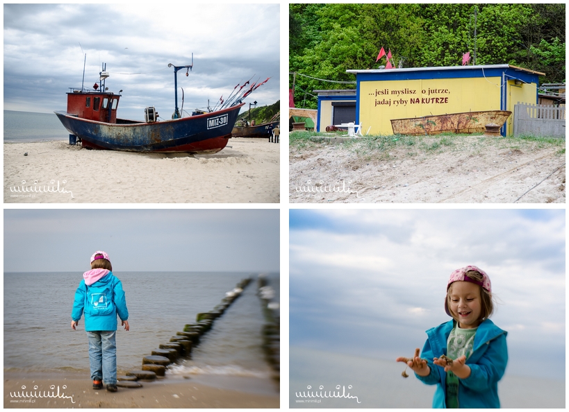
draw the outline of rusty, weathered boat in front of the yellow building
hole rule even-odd
[[[490,123],[501,128],[511,114],[512,112],[506,110],[489,110],[392,119],[391,127],[395,135],[438,135],[444,132],[484,133],[484,127]]]

